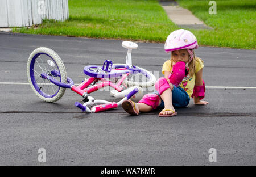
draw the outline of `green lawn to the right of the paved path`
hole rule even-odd
[[[217,14],[210,15],[206,0],[178,0],[179,5],[189,9],[214,31],[191,30],[200,45],[255,49],[256,1],[217,0]]]

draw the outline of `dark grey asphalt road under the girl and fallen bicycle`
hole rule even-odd
[[[42,102],[27,83],[32,50],[48,47],[63,60],[68,77],[80,83],[85,65],[124,63],[120,40],[0,33],[0,165],[256,165],[255,50],[199,47],[208,106],[127,115],[121,107],[87,114],[74,106],[81,97],[67,90],[56,103]],[[133,64],[162,77],[169,54],[163,44],[138,43]],[[221,86],[210,88],[209,86]],[[225,88],[254,87],[247,88]],[[92,94],[115,100],[108,91]],[[38,149],[46,162],[38,162]],[[209,162],[210,148],[217,162]]]

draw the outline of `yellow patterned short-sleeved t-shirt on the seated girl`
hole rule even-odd
[[[204,64],[203,62],[196,57],[196,67],[195,67],[195,73],[197,73],[198,71],[200,71],[202,68],[204,68]],[[164,62],[163,64],[163,69],[162,69],[162,73],[164,74],[164,71],[172,71],[171,68],[171,60],[167,60],[166,62]],[[196,74],[193,75],[193,77],[189,78],[187,81],[183,81],[180,84],[180,87],[183,88],[189,95],[189,98],[191,98],[191,95],[193,94],[193,89],[195,86],[195,82],[196,82]]]

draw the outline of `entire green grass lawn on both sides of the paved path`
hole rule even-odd
[[[192,31],[199,45],[255,49],[255,0],[220,0],[217,15],[208,13],[207,0],[179,0],[213,30]],[[15,32],[76,37],[96,37],[164,42],[180,29],[172,23],[156,0],[69,0],[69,19],[44,20],[32,28]]]

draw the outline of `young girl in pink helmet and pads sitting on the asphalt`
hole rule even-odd
[[[171,60],[163,64],[164,77],[156,81],[156,91],[144,95],[138,103],[126,100],[122,103],[123,109],[131,115],[138,115],[139,112],[162,108],[159,117],[170,117],[177,115],[174,107],[188,106],[191,97],[195,104],[209,104],[201,100],[205,92],[204,64],[195,56],[193,49],[197,48],[196,37],[190,31],[172,32],[164,45],[166,52],[171,52]]]

